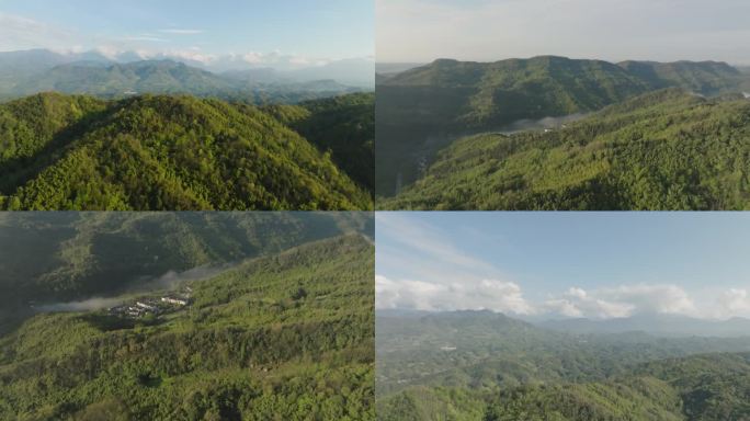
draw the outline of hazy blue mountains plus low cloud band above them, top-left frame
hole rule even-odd
[[[190,93],[295,102],[374,87],[374,64],[366,59],[275,70],[248,64],[230,70],[180,57],[115,59],[96,52],[58,54],[45,49],[0,53],[0,98],[44,91],[118,98],[135,93]]]

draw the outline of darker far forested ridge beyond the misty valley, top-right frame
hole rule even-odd
[[[436,60],[377,86],[377,193],[390,196],[420,179],[424,162],[468,134],[590,113],[666,88],[711,96],[739,92],[747,81],[714,61]]]

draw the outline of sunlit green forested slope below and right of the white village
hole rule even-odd
[[[373,270],[344,236],[189,281],[158,317],[39,314],[0,337],[0,418],[373,420]]]

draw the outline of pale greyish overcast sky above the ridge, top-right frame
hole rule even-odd
[[[376,0],[377,60],[576,58],[750,65],[747,0]]]

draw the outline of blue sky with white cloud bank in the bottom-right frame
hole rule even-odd
[[[379,308],[750,316],[750,215],[378,213]]]

